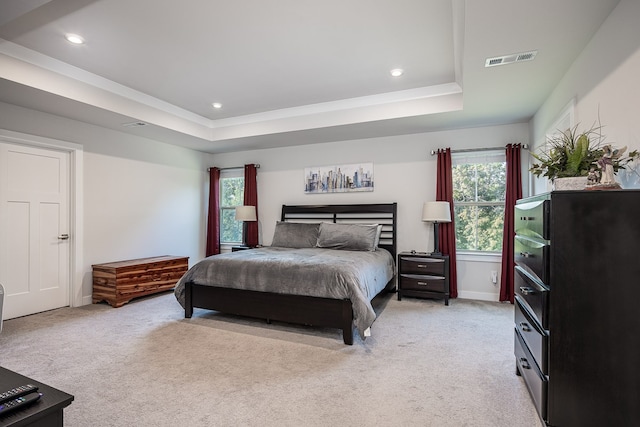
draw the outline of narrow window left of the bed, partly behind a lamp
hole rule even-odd
[[[244,204],[244,172],[220,172],[220,243],[241,243],[242,222],[236,221],[236,206]]]

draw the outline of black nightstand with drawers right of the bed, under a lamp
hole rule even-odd
[[[398,254],[398,301],[403,296],[444,299],[449,305],[449,255]]]

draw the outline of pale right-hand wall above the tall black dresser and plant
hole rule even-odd
[[[576,123],[603,126],[606,142],[640,149],[640,2],[621,0],[531,121],[532,141],[544,135],[574,99]],[[545,191],[536,185],[534,194]]]

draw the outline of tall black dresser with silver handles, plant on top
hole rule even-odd
[[[640,425],[640,191],[519,200],[515,357],[549,426]]]

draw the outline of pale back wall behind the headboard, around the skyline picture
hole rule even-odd
[[[504,147],[517,142],[528,143],[527,124],[218,154],[210,166],[260,164],[260,241],[265,245],[271,243],[283,204],[397,202],[398,249],[431,251],[433,226],[420,220],[423,202],[435,200],[436,157],[431,150]],[[361,162],[374,164],[373,192],[304,193],[305,167]],[[500,271],[499,257],[465,259],[458,262],[459,296],[497,301],[499,289],[491,283],[490,271]]]

